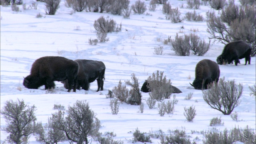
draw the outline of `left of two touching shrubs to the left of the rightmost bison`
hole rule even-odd
[[[178,36],[178,33],[176,33],[175,39],[171,40],[172,50],[174,50],[175,54],[178,54],[178,56],[189,56],[189,41],[190,38],[188,35],[185,34],[183,38],[182,36]]]

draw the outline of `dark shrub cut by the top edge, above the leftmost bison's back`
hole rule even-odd
[[[44,0],[45,1],[45,12],[49,15],[54,15],[59,8],[60,0]]]

